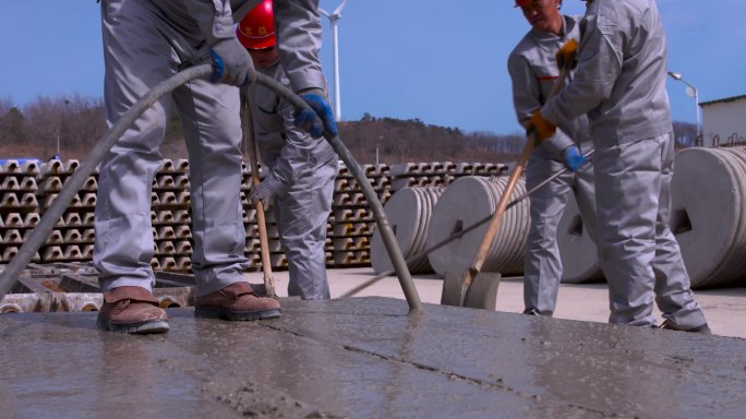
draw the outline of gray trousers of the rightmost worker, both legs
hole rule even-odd
[[[675,327],[706,323],[669,228],[673,160],[673,134],[595,148],[598,246],[610,323],[654,324],[653,297]]]

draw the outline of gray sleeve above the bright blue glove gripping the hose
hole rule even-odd
[[[275,0],[275,34],[280,62],[294,92],[325,91],[318,50],[322,25],[318,0]]]

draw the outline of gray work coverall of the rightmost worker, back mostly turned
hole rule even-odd
[[[542,116],[560,122],[588,113],[609,320],[654,324],[654,295],[674,327],[703,325],[669,228],[674,144],[658,7],[653,0],[593,0],[580,25],[575,77]]]

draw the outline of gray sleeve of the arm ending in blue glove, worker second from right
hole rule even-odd
[[[526,129],[531,115],[543,105],[541,86],[537,75],[531,71],[531,65],[519,55],[508,57],[508,73],[513,81],[513,106],[516,109],[516,117],[518,123]],[[541,142],[541,146],[555,158],[561,158],[562,152],[570,145],[575,145],[575,142],[560,128],[554,135]]]

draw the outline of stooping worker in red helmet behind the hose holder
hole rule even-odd
[[[289,81],[276,47],[272,0],[263,0],[236,28],[257,71],[284,85]],[[293,107],[264,86],[248,87],[254,135],[267,175],[252,199],[272,206],[280,244],[288,258],[288,295],[329,298],[326,278],[326,224],[332,211],[337,154],[323,137],[293,124]],[[272,204],[272,205],[269,205]]]

